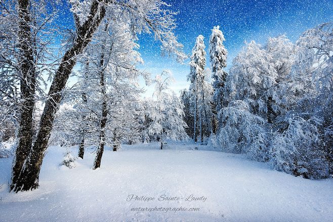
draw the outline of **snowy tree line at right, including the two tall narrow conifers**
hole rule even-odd
[[[223,41],[214,27],[209,71],[203,36],[196,39],[191,84],[181,94],[188,135],[290,174],[332,174],[333,23],[307,30],[295,44],[285,35],[264,46],[248,42],[228,72]]]

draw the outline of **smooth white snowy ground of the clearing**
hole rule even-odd
[[[94,171],[89,151],[68,169],[59,167],[65,148],[50,147],[39,189],[18,194],[8,193],[12,159],[0,159],[0,221],[332,221],[332,179],[310,181],[241,155],[190,148],[106,150]],[[127,201],[132,194],[155,199]],[[202,198],[186,201],[191,194]],[[183,199],[158,201],[161,195]],[[131,211],[138,207],[164,211]]]

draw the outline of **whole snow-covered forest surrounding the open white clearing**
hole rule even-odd
[[[168,6],[1,2],[0,156],[14,157],[10,191],[38,188],[49,146],[77,146],[65,154],[69,165],[93,147],[97,169],[106,147],[193,141],[306,179],[333,174],[333,23],[296,42],[286,35],[245,42],[226,70],[223,24],[193,39],[186,55]],[[60,7],[69,7],[69,27],[57,23]],[[152,77],[137,68],[141,33],[159,41],[161,59],[188,64],[189,88],[177,94],[169,70]],[[139,78],[154,85],[151,97],[142,96]]]

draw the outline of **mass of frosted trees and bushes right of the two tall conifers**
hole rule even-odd
[[[251,42],[233,61],[220,112],[217,141],[230,152],[270,160],[278,170],[305,178],[332,171],[332,23],[285,36],[265,47]]]

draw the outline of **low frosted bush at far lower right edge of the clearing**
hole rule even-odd
[[[286,129],[276,132],[272,141],[273,166],[305,178],[327,176],[328,164],[320,144],[318,125],[319,120],[315,118],[288,118]]]

